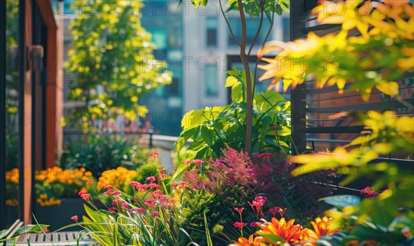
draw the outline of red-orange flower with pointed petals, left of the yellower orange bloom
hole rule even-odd
[[[288,243],[295,243],[299,241],[300,232],[302,227],[300,225],[293,225],[295,219],[291,219],[286,223],[285,218],[281,218],[280,221],[277,218],[272,218],[272,222],[265,222],[263,224],[257,223],[264,233],[270,233],[276,236],[280,236]],[[264,236],[266,238],[266,236]]]

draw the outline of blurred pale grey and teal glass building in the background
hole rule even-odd
[[[146,119],[141,119],[139,124],[142,126],[144,121],[150,121],[155,134],[169,136],[179,135],[181,118],[186,112],[206,106],[228,104],[228,89],[224,88],[225,71],[229,66],[242,70],[241,63],[228,60],[228,55],[239,54],[239,47],[233,41],[221,16],[219,1],[209,1],[206,8],[198,9],[190,1],[182,1],[181,6],[178,2],[143,1],[141,7],[141,23],[152,34],[152,41],[157,45],[155,59],[164,62],[166,70],[172,72],[172,83],[153,90],[139,100],[149,110]],[[70,21],[77,18],[79,10],[74,1],[65,0],[63,3],[64,54],[67,56],[72,41],[68,27]],[[239,14],[228,12],[227,17],[235,36],[240,38],[242,30],[239,29]],[[258,25],[259,18],[248,19],[248,44],[253,41]],[[270,23],[265,17],[252,57],[255,57],[261,47],[269,26]],[[268,40],[275,39],[289,40],[287,13],[281,17],[275,14],[275,23]],[[254,67],[254,62],[251,67]],[[76,74],[64,72],[65,99],[75,76]],[[266,90],[268,83],[258,83],[257,92]],[[77,102],[65,102],[66,109],[77,105]],[[118,121],[119,124],[122,122]]]

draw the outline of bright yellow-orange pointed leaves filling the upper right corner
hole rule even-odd
[[[362,2],[327,1],[315,8],[319,23],[342,25],[342,30],[323,37],[311,32],[305,41],[270,43],[263,52],[281,52],[275,59],[263,59],[269,64],[259,66],[266,70],[260,79],[283,79],[287,89],[313,75],[320,88],[356,90],[364,100],[374,88],[398,96],[395,81],[413,72],[413,7],[404,1]],[[347,82],[350,88],[345,88]]]

